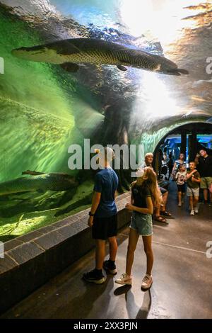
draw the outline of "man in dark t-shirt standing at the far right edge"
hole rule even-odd
[[[208,203],[208,190],[210,193],[210,205],[212,203],[212,157],[208,156],[205,149],[199,151],[197,157],[197,170],[201,176],[200,188],[204,190],[204,203]]]

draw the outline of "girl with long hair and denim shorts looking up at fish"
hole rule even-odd
[[[144,251],[146,252],[146,274],[143,277],[141,289],[151,288],[153,278],[153,205],[160,203],[160,191],[157,184],[157,177],[153,169],[148,166],[137,171],[137,180],[131,186],[131,203],[126,208],[132,211],[129,244],[126,254],[126,272],[115,280],[122,285],[131,285],[131,268],[134,261],[134,252],[141,235],[143,238]]]

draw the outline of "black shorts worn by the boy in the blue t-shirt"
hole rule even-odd
[[[117,236],[117,214],[110,218],[93,218],[93,239],[104,239]]]

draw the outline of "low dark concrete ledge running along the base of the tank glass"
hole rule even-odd
[[[129,193],[117,197],[118,228],[131,214],[124,208]],[[0,259],[0,312],[18,303],[95,246],[87,225],[88,211],[5,243]]]

